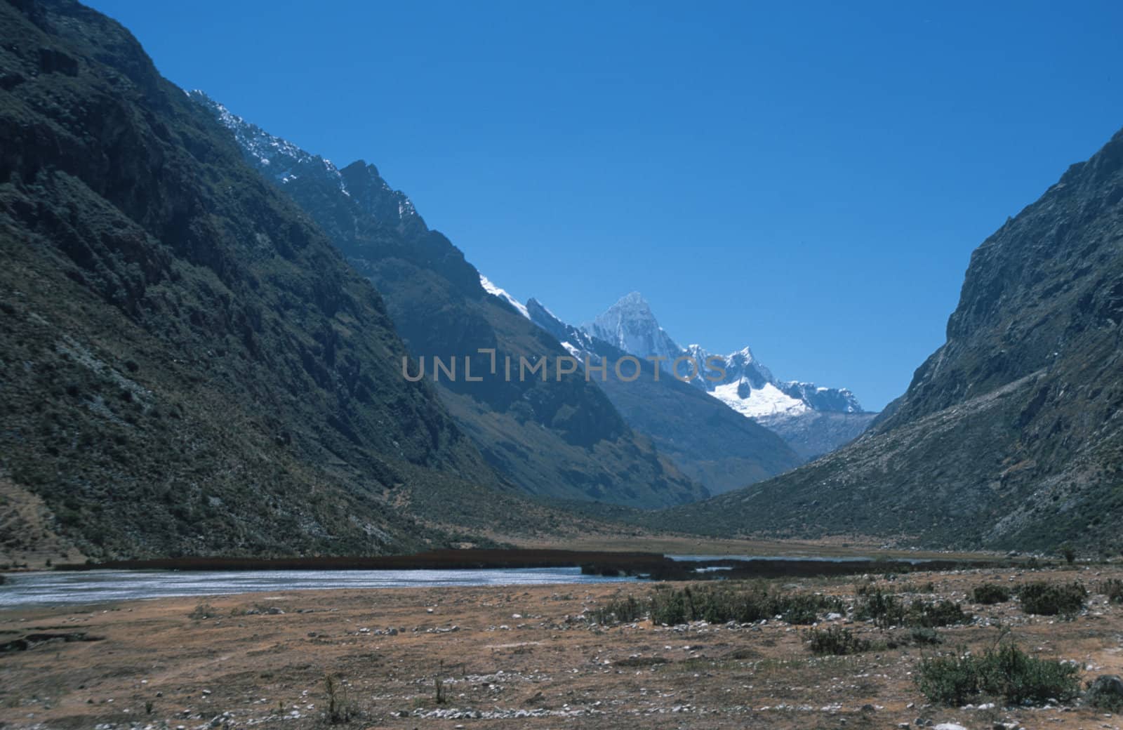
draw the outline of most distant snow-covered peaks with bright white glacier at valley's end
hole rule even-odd
[[[864,411],[846,389],[778,380],[748,347],[730,355],[714,355],[699,345],[681,347],[639,292],[624,295],[582,329],[639,357],[663,358],[668,373],[676,358],[691,358],[678,364],[682,376],[779,435],[803,460],[850,441],[877,416]]]

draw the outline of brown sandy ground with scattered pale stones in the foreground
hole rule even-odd
[[[965,601],[977,619],[940,629],[944,648],[980,648],[1002,622],[1028,650],[1078,661],[1086,679],[1123,673],[1123,606],[1103,596],[1067,621],[1025,615],[1016,602],[978,606],[967,599],[984,581],[1077,577],[1090,587],[1123,577],[1123,567],[914,573],[887,585],[909,594],[931,581],[938,596]],[[850,602],[856,580],[777,586]],[[166,599],[2,611],[0,644],[33,633],[85,636],[0,654],[0,727],[319,728],[329,724],[328,676],[355,713],[340,727],[354,728],[1123,726],[1121,717],[1080,706],[926,706],[912,681],[915,647],[815,657],[804,644],[807,628],[775,620],[603,628],[579,618],[609,597],[650,590],[631,583],[250,593],[210,597],[209,606]],[[849,627],[882,636],[865,622]]]

